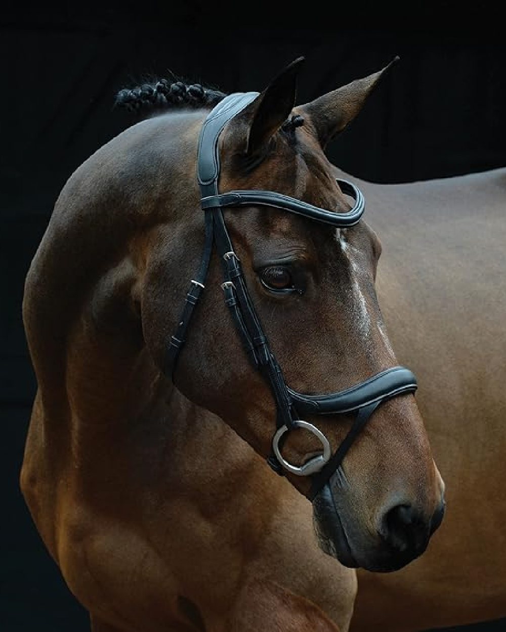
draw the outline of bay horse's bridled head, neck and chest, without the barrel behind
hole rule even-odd
[[[20,485],[95,632],[346,630],[352,569],[443,518],[379,241],[324,154],[390,65],[295,106],[300,61],[261,93],[144,87],[168,111],[78,167],[28,270]]]

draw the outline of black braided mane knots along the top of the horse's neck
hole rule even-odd
[[[135,88],[123,88],[116,94],[114,106],[142,116],[176,107],[214,107],[225,96],[224,92],[200,83],[159,79]]]

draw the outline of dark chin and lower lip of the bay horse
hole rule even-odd
[[[412,556],[394,553],[391,550],[378,550],[373,554],[361,554],[354,550],[340,518],[330,485],[324,485],[318,492],[312,507],[314,530],[320,549],[335,557],[343,566],[363,568],[374,573],[391,573],[414,559]]]

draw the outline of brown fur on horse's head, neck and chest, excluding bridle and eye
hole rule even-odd
[[[340,126],[354,116],[377,78],[321,101],[324,120],[332,102]],[[315,133],[319,106],[297,110],[307,125],[294,147],[273,131],[290,98],[266,111],[269,99],[268,90],[226,128],[220,186],[256,185],[347,209]],[[311,505],[299,494],[307,482],[276,477],[229,428],[265,457],[275,409],[231,326],[216,258],[174,384],[161,370],[202,250],[195,159],[205,116],[180,112],[133,126],[79,167],[59,196],[23,301],[39,386],[23,494],[96,629],[233,629],[238,616],[259,621],[265,610],[245,586],[275,581],[305,604],[294,621],[319,608],[346,630],[354,573],[316,547]],[[366,224],[336,236],[260,209],[228,213],[227,224],[295,389],[337,391],[396,363],[374,293],[378,243]],[[307,279],[305,296],[291,303],[269,296],[254,271],[287,253]],[[316,423],[336,447],[349,420]],[[292,460],[312,449],[305,437],[287,441]],[[378,408],[344,470],[332,485],[357,564],[392,568],[397,551],[378,531],[386,512],[410,504],[428,532],[442,497],[412,396]]]

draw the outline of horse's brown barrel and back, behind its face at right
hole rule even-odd
[[[379,305],[419,379],[448,504],[419,559],[388,575],[358,571],[351,629],[506,617],[506,169],[396,185],[334,173],[369,202],[384,246]]]

